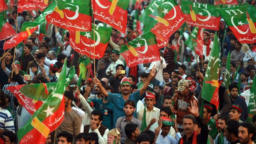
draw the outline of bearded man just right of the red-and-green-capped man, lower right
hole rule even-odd
[[[221,136],[220,135],[222,134],[222,136],[223,136],[224,128],[226,126],[226,122],[227,122],[228,119],[229,119],[229,117],[226,116],[226,115],[219,116],[219,119],[218,119],[218,129],[219,129],[219,132],[221,132],[221,133],[219,133],[216,136],[214,144],[220,144],[221,143]],[[223,142],[225,144],[228,143],[226,137],[223,137]]]

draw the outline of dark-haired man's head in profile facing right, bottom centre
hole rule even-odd
[[[140,129],[137,124],[128,123],[125,125],[125,134],[127,135],[125,144],[135,144],[135,140],[140,134]]]

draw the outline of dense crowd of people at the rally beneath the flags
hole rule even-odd
[[[188,26],[183,33],[174,32],[159,50],[160,61],[128,67],[119,51],[139,36],[132,24],[134,6],[128,13],[126,34],[112,29],[100,60],[74,51],[69,33],[51,23],[44,25],[47,34],[32,33],[25,45],[16,47],[15,54],[13,49],[3,51],[5,41],[0,42],[0,144],[18,143],[18,130],[32,116],[6,88],[57,82],[65,59],[67,68],[74,66],[76,74],[64,92],[64,120],[49,133],[45,144],[254,144],[256,115],[252,121],[247,118],[256,74],[256,43],[239,43],[221,21],[218,110],[206,100],[202,103],[215,31],[204,31],[203,57],[196,57],[184,44],[193,29]],[[19,32],[23,22],[34,21],[40,12],[32,18],[27,12],[16,14],[14,6],[13,17],[11,13],[6,17]],[[177,54],[173,47],[178,47]],[[231,62],[227,63],[229,52]],[[230,85],[225,87],[222,83],[229,65]]]

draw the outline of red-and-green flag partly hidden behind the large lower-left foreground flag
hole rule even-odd
[[[57,83],[23,84],[9,86],[6,90],[12,92],[22,107],[33,115],[49,97],[49,90]]]

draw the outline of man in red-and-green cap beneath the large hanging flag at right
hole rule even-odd
[[[204,120],[208,125],[209,135],[214,140],[218,134],[217,125],[215,119],[211,117],[212,106],[204,103]]]

